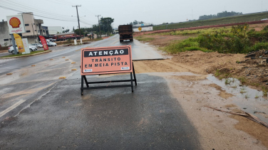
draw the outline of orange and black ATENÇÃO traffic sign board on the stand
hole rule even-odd
[[[81,50],[81,75],[132,73],[131,45]]]

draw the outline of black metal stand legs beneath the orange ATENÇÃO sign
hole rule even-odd
[[[101,89],[101,88],[113,88],[113,87],[131,87],[131,90],[133,92],[133,81],[135,81],[135,86],[137,86],[137,80],[136,80],[136,75],[135,75],[135,69],[134,69],[134,64],[133,65],[133,75],[134,79],[132,76],[132,73],[130,73],[130,80],[112,80],[112,81],[98,81],[98,82],[88,82],[86,79],[86,75],[81,75],[81,95],[83,95],[83,90],[91,90],[91,89]],[[83,87],[83,81],[85,80],[86,82],[86,87]],[[110,83],[110,82],[131,82],[130,85],[110,85],[110,86],[100,86],[100,87],[89,87],[89,84],[98,84],[98,83]]]

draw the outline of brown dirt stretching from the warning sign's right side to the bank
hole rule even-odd
[[[265,51],[257,53],[263,52]],[[257,90],[262,90],[262,87],[268,88],[267,63],[262,62],[264,60],[262,58],[256,57],[252,60],[245,56],[244,54],[204,53],[197,50],[172,55],[172,58],[168,60],[135,61],[134,65],[136,73],[215,74],[219,78],[235,77],[240,79],[244,85],[250,85]]]

